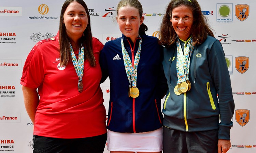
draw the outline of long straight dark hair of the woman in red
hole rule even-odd
[[[82,46],[84,46],[85,52],[84,52],[84,60],[88,59],[90,62],[90,66],[95,66],[95,58],[93,55],[92,50],[92,34],[91,34],[91,24],[90,24],[90,15],[88,11],[88,7],[85,4],[83,0],[66,0],[61,8],[61,14],[60,14],[60,22],[59,22],[59,41],[60,41],[60,64],[61,65],[67,65],[71,61],[71,54],[70,54],[70,38],[67,35],[64,21],[64,13],[72,2],[77,2],[81,4],[87,14],[88,18],[88,25],[86,29],[84,30],[84,36],[81,37],[80,41]]]

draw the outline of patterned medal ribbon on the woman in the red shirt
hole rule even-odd
[[[71,45],[70,45],[70,53],[71,53],[73,65],[75,67],[76,74],[80,82],[82,81],[82,78],[84,75],[84,46],[82,46],[82,48],[79,49],[78,61],[76,60],[75,53]]]

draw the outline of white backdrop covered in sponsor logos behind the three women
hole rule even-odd
[[[229,66],[236,104],[231,129],[232,147],[229,152],[254,153],[256,1],[198,1],[215,30],[216,38],[223,44]],[[24,107],[20,78],[31,48],[39,40],[56,35],[63,2],[64,0],[0,1],[0,153],[32,152],[32,122]],[[118,0],[85,2],[90,9],[94,37],[105,44],[106,41],[121,36],[115,21]],[[140,2],[144,10],[144,23],[148,26],[146,34],[158,37],[162,15],[169,0]],[[236,7],[239,4],[243,5],[238,10]],[[101,84],[101,87],[104,105],[108,109],[109,81]],[[105,149],[105,152],[108,151]]]

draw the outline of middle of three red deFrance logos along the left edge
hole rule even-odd
[[[21,69],[21,60],[0,60],[0,69]]]

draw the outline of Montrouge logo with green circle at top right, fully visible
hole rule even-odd
[[[232,3],[217,3],[217,22],[232,22]]]

